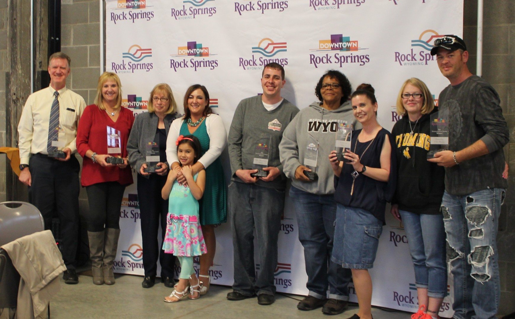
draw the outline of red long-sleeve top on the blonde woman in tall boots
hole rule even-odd
[[[82,162],[82,186],[89,186],[101,182],[118,182],[122,185],[132,184],[132,170],[118,166],[104,167],[85,157],[88,149],[97,154],[107,154],[107,126],[111,126],[121,133],[122,157],[127,157],[127,140],[134,123],[132,111],[121,107],[116,122],[111,120],[105,110],[95,104],[88,105],[79,120],[77,127],[77,152],[84,159]]]

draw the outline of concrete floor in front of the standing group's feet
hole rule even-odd
[[[185,299],[169,304],[163,298],[171,289],[164,287],[160,279],[154,287],[141,287],[143,277],[115,274],[116,284],[95,286],[91,271],[79,272],[78,285],[66,285],[61,279],[61,291],[50,302],[50,317],[61,318],[328,318],[321,309],[297,310],[302,298],[297,295],[277,294],[271,306],[258,305],[257,298],[228,301],[229,287],[213,285],[208,294],[197,300]],[[348,318],[357,312],[350,306],[334,318]],[[409,319],[410,313],[372,309],[375,319]]]

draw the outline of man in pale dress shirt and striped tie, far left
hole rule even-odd
[[[43,215],[45,230],[52,228],[57,212],[58,237],[67,268],[63,279],[66,284],[77,284],[80,165],[75,157],[75,138],[86,103],[80,95],[66,89],[70,72],[68,55],[50,55],[50,86],[28,97],[18,124],[18,146],[20,181],[29,186],[29,201]]]

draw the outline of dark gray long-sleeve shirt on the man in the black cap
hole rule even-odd
[[[439,109],[449,109],[449,149],[460,151],[482,140],[488,154],[445,169],[445,191],[468,195],[477,191],[502,188],[507,182],[503,146],[509,131],[500,99],[493,87],[478,76],[458,85],[449,85],[440,93]]]

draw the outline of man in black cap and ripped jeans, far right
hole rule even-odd
[[[451,82],[439,97],[439,109],[449,111],[449,150],[429,161],[445,167],[441,210],[454,276],[453,317],[495,318],[501,293],[495,238],[507,187],[508,126],[497,92],[469,71],[463,40],[445,35],[431,54]]]

